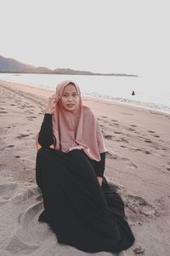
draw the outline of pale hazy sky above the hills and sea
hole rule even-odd
[[[0,55],[49,68],[167,73],[168,1],[0,0]]]

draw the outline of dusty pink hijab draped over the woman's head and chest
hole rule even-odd
[[[54,148],[65,153],[76,148],[82,149],[90,159],[99,161],[99,154],[107,151],[104,138],[94,113],[82,106],[79,86],[71,80],[65,80],[57,85],[56,94],[61,97],[65,86],[70,83],[77,89],[79,106],[74,111],[66,111],[60,102],[56,103],[53,115]]]

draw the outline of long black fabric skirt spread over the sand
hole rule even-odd
[[[47,222],[59,243],[88,253],[118,253],[133,245],[120,195],[105,177],[99,185],[82,150],[40,148],[36,178]]]

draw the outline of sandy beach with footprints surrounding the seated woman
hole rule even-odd
[[[0,255],[92,255],[59,245],[39,223],[42,195],[35,181],[35,137],[54,90],[0,80]],[[82,97],[94,110],[108,149],[105,177],[126,204],[136,238],[119,255],[170,255],[170,115]],[[74,231],[74,230],[73,230]],[[93,255],[117,255],[93,253]]]

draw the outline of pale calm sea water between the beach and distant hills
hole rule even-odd
[[[170,113],[170,86],[157,84],[154,80],[130,76],[88,76],[59,74],[0,73],[6,81],[40,86],[55,90],[56,84],[71,79],[80,85],[83,95],[123,102],[141,108]],[[155,79],[156,81],[156,79]],[[132,95],[132,92],[135,95]]]

